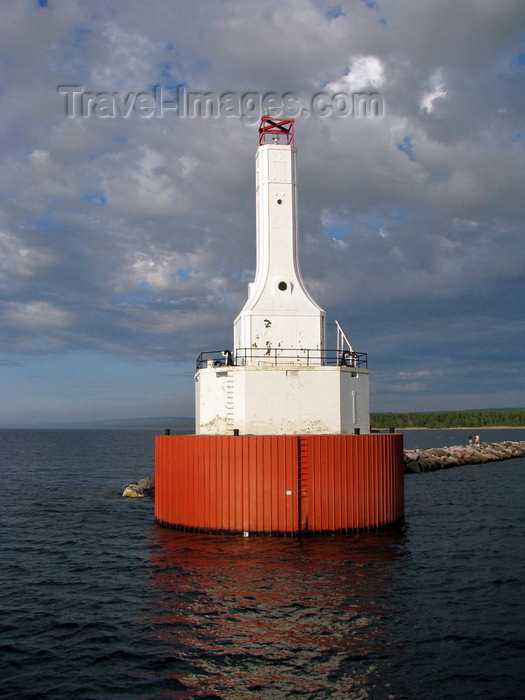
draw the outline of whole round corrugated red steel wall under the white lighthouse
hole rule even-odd
[[[403,518],[402,435],[158,436],[155,517],[203,532],[294,535]]]

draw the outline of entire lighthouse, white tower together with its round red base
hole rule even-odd
[[[294,121],[263,117],[256,271],[231,348],[203,351],[195,435],[155,440],[155,519],[196,532],[302,536],[399,523],[403,436],[370,431],[369,371],[299,265]]]

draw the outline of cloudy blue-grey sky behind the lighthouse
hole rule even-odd
[[[371,410],[525,406],[523,0],[3,0],[0,28],[0,426],[193,415],[255,273],[265,106]]]

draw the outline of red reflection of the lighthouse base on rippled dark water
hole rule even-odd
[[[177,678],[195,689],[167,695],[384,691],[388,624],[399,614],[390,577],[402,541],[400,533],[297,540],[156,528],[151,622],[184,662]]]

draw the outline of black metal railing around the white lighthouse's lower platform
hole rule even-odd
[[[339,366],[366,369],[368,355],[354,350],[318,350],[309,348],[239,348],[209,350],[197,358],[197,370],[203,367],[244,367],[245,365]]]

